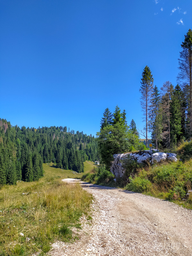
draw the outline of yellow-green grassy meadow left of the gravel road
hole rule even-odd
[[[84,163],[88,173],[93,162]],[[92,196],[79,184],[62,182],[82,173],[43,164],[44,177],[35,182],[18,181],[0,189],[0,256],[44,255],[54,240],[78,238],[79,218],[89,212]],[[83,173],[83,174],[84,174]]]

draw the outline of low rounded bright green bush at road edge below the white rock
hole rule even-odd
[[[130,183],[127,184],[124,188],[131,190],[133,192],[147,192],[152,187],[152,184],[149,180],[136,176],[134,179],[129,177]]]

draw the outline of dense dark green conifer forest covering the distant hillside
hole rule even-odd
[[[66,126],[20,129],[0,118],[0,184],[38,180],[43,163],[84,172],[86,160],[98,160],[97,142],[91,134],[67,132]]]

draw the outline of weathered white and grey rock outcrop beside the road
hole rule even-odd
[[[114,161],[112,161],[110,171],[116,177],[122,177],[125,173],[125,169],[122,166],[122,160],[131,157],[132,160],[137,161],[138,163],[144,163],[149,161],[151,164],[155,162],[160,162],[161,160],[171,160],[177,161],[177,155],[174,153],[163,153],[163,152],[155,152],[157,150],[144,150],[138,151],[136,153],[125,153],[125,154],[115,154],[113,155]]]

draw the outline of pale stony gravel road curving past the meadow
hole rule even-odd
[[[95,211],[91,226],[84,218],[80,240],[58,242],[50,255],[192,255],[192,211],[127,190],[63,181],[81,182]]]

